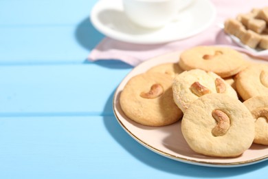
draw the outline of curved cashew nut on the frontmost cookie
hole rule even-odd
[[[212,111],[213,118],[217,121],[216,126],[212,129],[213,136],[223,136],[230,128],[230,118],[219,109]]]

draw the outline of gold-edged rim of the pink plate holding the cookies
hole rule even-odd
[[[124,129],[124,131],[126,131],[126,133],[129,134],[129,136],[131,136],[133,139],[135,139],[139,144],[143,145],[147,149],[150,149],[151,151],[155,152],[156,154],[159,154],[159,155],[164,156],[166,158],[170,158],[172,160],[177,160],[179,162],[188,163],[188,164],[191,164],[191,165],[200,165],[200,166],[205,166],[205,167],[243,167],[243,166],[253,165],[253,164],[256,164],[258,162],[263,162],[265,160],[268,160],[268,154],[266,154],[265,156],[261,156],[261,157],[258,157],[258,158],[251,159],[251,160],[244,160],[244,161],[241,161],[241,162],[209,162],[209,161],[199,161],[199,160],[194,160],[194,159],[189,159],[189,158],[183,158],[183,157],[180,157],[180,156],[175,156],[175,155],[172,155],[172,154],[168,154],[165,151],[161,151],[160,149],[157,149],[157,148],[149,145],[148,143],[144,142],[142,139],[140,139],[137,136],[135,136],[135,134],[133,134],[133,132],[131,132],[131,130],[128,129],[124,125],[124,123],[122,123],[122,121],[118,117],[117,110],[116,110],[116,107],[115,107],[116,96],[118,96],[119,93],[120,93],[119,90],[120,90],[120,85],[122,85],[122,82],[126,81],[126,79],[129,78],[129,76],[133,72],[133,70],[138,70],[139,67],[144,66],[144,64],[146,64],[146,63],[150,63],[150,61],[155,60],[155,58],[163,58],[164,56],[166,56],[168,54],[172,54],[172,53],[180,54],[181,52],[182,52],[181,50],[177,50],[177,51],[167,52],[167,53],[162,54],[160,56],[155,56],[153,58],[150,58],[150,59],[148,59],[148,60],[146,60],[146,61],[144,61],[142,63],[139,63],[139,65],[137,65],[136,67],[133,67],[133,69],[128,74],[126,74],[126,76],[124,76],[124,78],[122,78],[122,81],[120,82],[118,87],[116,87],[115,92],[113,94],[113,114],[115,115],[116,120],[118,121],[120,126]],[[157,64],[162,64],[162,63],[167,63],[167,62],[161,61],[160,63],[157,63]],[[170,63],[170,61],[168,63]],[[141,73],[142,72],[139,72],[139,74],[141,74]],[[178,121],[178,123],[180,121]]]

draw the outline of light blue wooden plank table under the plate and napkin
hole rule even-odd
[[[267,178],[268,161],[188,165],[139,145],[113,115],[132,67],[86,61],[96,0],[0,1],[0,178]]]

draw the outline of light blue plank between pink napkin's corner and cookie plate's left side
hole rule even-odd
[[[124,63],[0,66],[0,116],[111,115]]]

